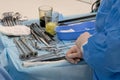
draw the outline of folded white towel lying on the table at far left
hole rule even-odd
[[[29,35],[30,28],[24,25],[16,25],[12,27],[0,25],[0,32],[8,36]]]

